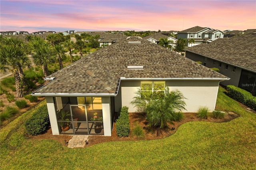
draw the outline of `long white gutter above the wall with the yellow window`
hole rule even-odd
[[[226,78],[126,78],[120,77],[120,80],[230,80],[229,77]]]

